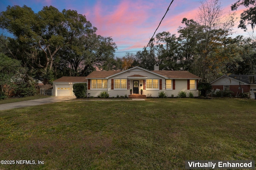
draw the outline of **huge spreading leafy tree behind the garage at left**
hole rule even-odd
[[[27,6],[8,6],[0,14],[0,27],[14,35],[5,45],[6,54],[44,83],[52,77],[86,76],[95,67],[113,69],[113,39],[96,35],[97,29],[77,11],[45,6],[34,13]]]

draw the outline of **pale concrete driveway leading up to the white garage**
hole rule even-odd
[[[50,97],[50,98],[42,98],[42,99],[35,99],[35,100],[27,100],[27,101],[23,101],[23,102],[0,104],[0,110],[7,110],[7,109],[20,108],[20,107],[28,107],[28,106],[36,106],[36,105],[49,104],[49,103],[55,103],[55,102],[64,102],[64,101],[72,100],[75,98],[76,97],[54,96],[54,97]]]

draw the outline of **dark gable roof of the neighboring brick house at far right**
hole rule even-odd
[[[243,82],[246,84],[256,84],[256,82],[255,82],[256,75],[239,75],[239,74],[223,75],[223,76],[220,76],[219,78],[217,78],[216,80],[214,80],[213,82],[216,82],[217,80],[219,80],[222,77],[232,78],[234,80],[237,80],[238,82]],[[213,82],[211,82],[211,83],[213,83]]]

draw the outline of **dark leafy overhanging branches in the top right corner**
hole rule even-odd
[[[240,15],[240,24],[238,25],[238,28],[244,29],[244,31],[247,31],[246,25],[250,24],[252,27],[252,30],[255,27],[256,24],[256,2],[255,0],[238,0],[236,3],[232,4],[231,10],[237,10],[239,6],[245,6],[248,8],[250,5],[252,5],[248,10],[245,10]],[[247,24],[246,24],[247,21]]]

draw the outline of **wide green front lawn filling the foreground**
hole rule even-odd
[[[6,169],[185,169],[185,160],[256,160],[254,100],[60,102],[0,111]]]

